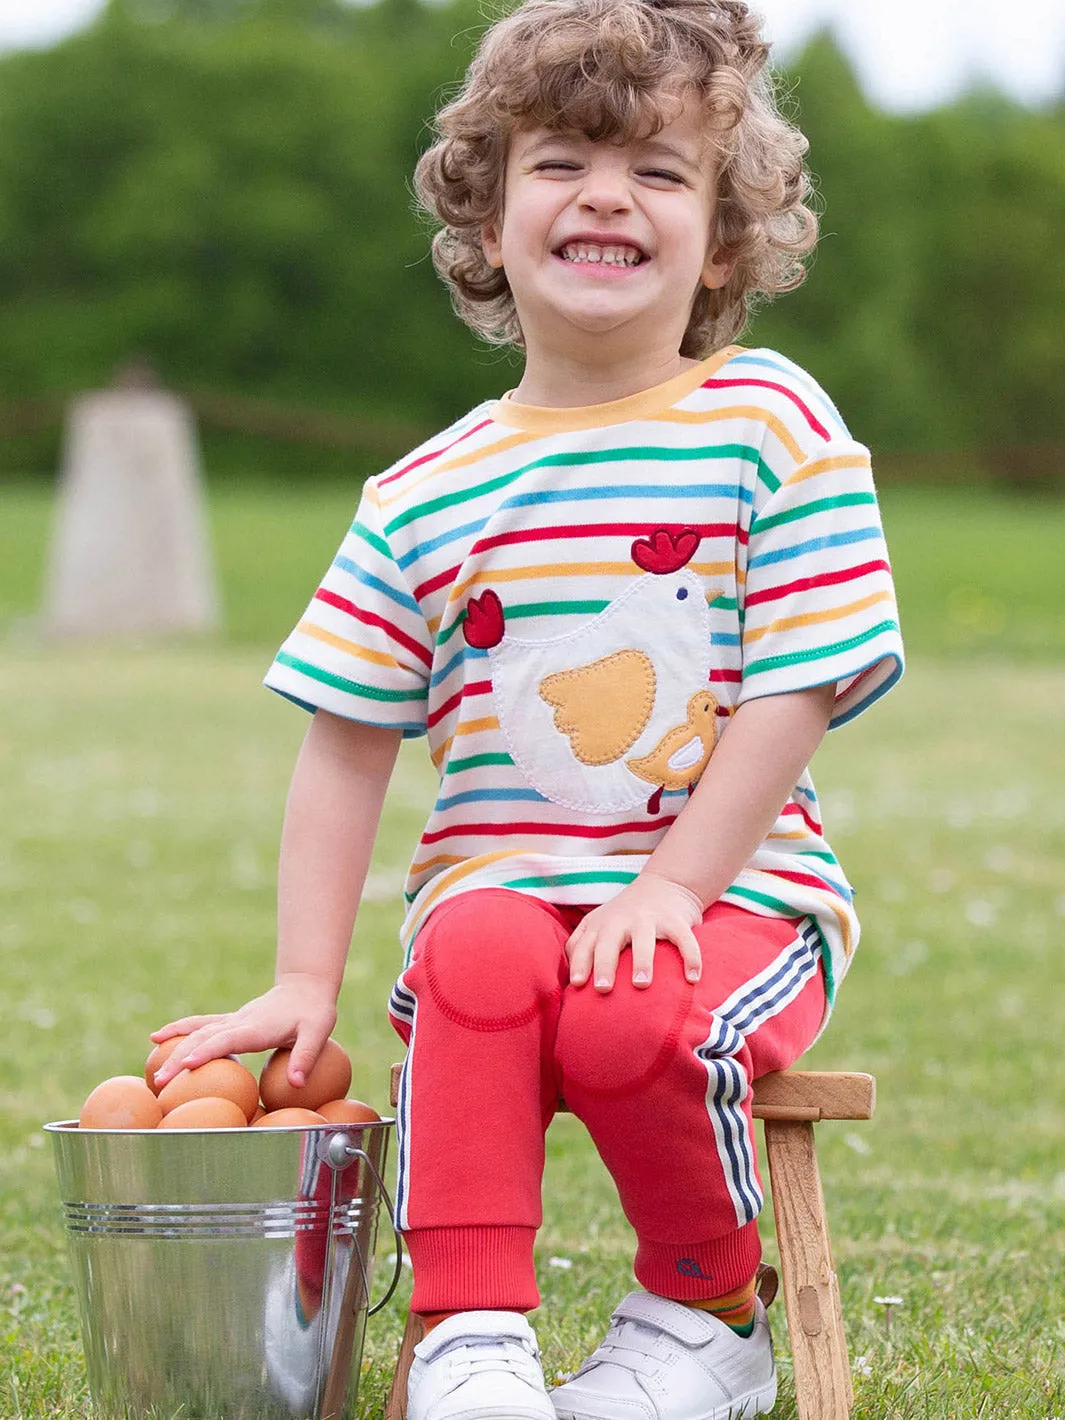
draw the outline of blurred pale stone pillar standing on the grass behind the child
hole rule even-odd
[[[196,425],[146,364],[67,417],[41,629],[203,632],[219,623]]]

